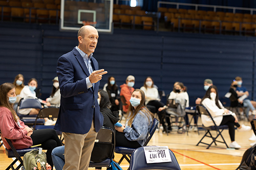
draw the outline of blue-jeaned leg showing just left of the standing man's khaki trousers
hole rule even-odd
[[[52,150],[52,161],[56,170],[62,170],[65,164],[65,146],[56,147]]]

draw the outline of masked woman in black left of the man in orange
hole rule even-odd
[[[105,89],[106,92],[109,94],[110,103],[111,103],[111,111],[120,110],[120,91],[118,89],[118,85],[116,84],[114,77],[109,77],[108,84],[106,85]]]

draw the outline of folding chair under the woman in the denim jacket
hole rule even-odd
[[[155,131],[158,127],[158,124],[159,124],[159,121],[156,118],[154,118],[152,127],[150,129],[150,135],[148,136],[148,138],[145,141],[143,146],[146,146],[147,143],[150,141],[150,139],[152,138],[153,134],[155,133]],[[129,158],[131,158],[131,155],[132,155],[134,150],[135,150],[134,148],[115,147],[115,153],[123,155],[121,157],[121,159],[118,161],[118,164],[120,164],[124,158],[130,163]]]

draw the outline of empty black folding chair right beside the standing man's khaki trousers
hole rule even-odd
[[[114,155],[115,132],[102,127],[95,139],[89,167],[109,167]]]

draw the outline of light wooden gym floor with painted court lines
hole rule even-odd
[[[250,125],[249,122],[240,122],[240,124]],[[200,125],[200,123],[199,123]],[[215,134],[215,132],[214,132]],[[222,132],[227,144],[230,143],[228,130]],[[236,141],[241,145],[241,149],[226,149],[223,143],[217,143],[218,145],[212,145],[210,149],[206,149],[206,145],[199,144],[197,142],[204,135],[204,131],[200,131],[200,135],[197,132],[189,132],[179,134],[175,131],[168,133],[162,133],[160,130],[156,130],[148,145],[168,146],[172,150],[178,160],[178,163],[182,170],[188,169],[236,169],[240,164],[244,152],[250,147],[248,138],[251,136],[252,131],[249,132],[237,132]],[[207,141],[207,140],[205,140]],[[120,154],[115,154],[115,160],[121,158]],[[12,162],[11,158],[8,158],[5,154],[5,148],[0,148],[0,170],[5,169]],[[120,164],[122,169],[127,169],[129,163],[126,160]],[[89,168],[94,169],[94,168]],[[102,168],[105,169],[105,168]]]

